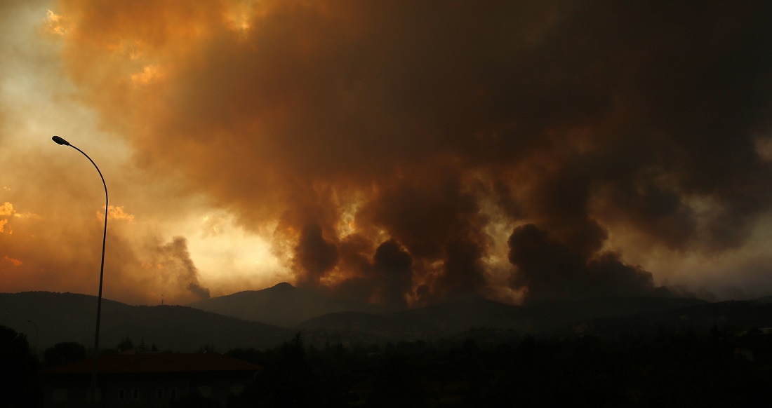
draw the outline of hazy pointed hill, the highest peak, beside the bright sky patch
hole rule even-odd
[[[327,298],[283,282],[259,291],[236,292],[191,303],[191,308],[239,319],[291,327],[307,319],[335,312],[378,313],[378,305]]]

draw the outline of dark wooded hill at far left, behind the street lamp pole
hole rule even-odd
[[[6,315],[7,314],[7,315]],[[57,342],[93,346],[97,298],[55,292],[0,293],[0,317],[5,325],[23,332],[31,347],[40,350]],[[35,325],[38,329],[36,335]],[[185,306],[132,306],[103,299],[100,348],[114,348],[129,336],[137,346],[190,352],[212,345],[228,348],[267,348],[292,339],[289,329],[249,322]],[[36,336],[39,336],[36,337]]]

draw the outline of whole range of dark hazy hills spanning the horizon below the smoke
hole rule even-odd
[[[271,348],[292,339],[296,332],[302,333],[306,344],[319,346],[459,339],[472,329],[566,336],[579,326],[605,334],[657,325],[772,327],[772,304],[763,299],[709,303],[696,298],[606,297],[506,305],[468,298],[398,312],[361,312],[345,310],[347,306],[361,309],[361,305],[346,305],[280,284],[211,300],[206,305],[220,310],[294,324],[279,327],[188,306],[133,306],[105,299],[100,347],[114,348],[126,336],[135,345],[144,341],[158,349],[193,351],[212,345],[225,351]],[[42,350],[56,342],[88,347],[93,344],[96,303],[94,296],[73,293],[2,293],[0,315],[5,325],[25,333],[32,347],[37,343]],[[298,322],[307,315],[313,316]]]

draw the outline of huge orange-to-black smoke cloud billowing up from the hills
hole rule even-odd
[[[697,8],[56,12],[79,96],[138,167],[276,227],[298,283],[398,305],[485,293],[506,258],[493,231],[515,225],[510,282],[529,298],[659,293],[625,254],[742,247],[772,204],[772,4]]]

